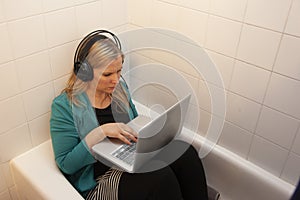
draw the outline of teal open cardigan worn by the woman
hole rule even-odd
[[[137,110],[127,88],[124,88],[130,103],[128,114],[133,119],[138,115]],[[84,106],[71,103],[66,93],[53,100],[50,132],[57,166],[77,191],[86,197],[89,190],[96,186],[93,165],[96,160],[83,138],[99,124],[86,93],[79,94],[78,99]]]

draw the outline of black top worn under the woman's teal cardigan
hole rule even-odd
[[[112,107],[115,109],[112,110]],[[122,111],[120,106],[117,104],[110,104],[108,107],[104,109],[94,108],[96,117],[99,125],[114,123],[114,122],[123,122],[128,123],[130,121],[129,115],[127,112]],[[94,164],[94,178],[96,179],[98,176],[103,175],[110,167],[105,164],[97,161]]]

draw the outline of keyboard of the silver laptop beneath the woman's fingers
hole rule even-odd
[[[134,161],[134,152],[136,150],[136,143],[132,142],[130,145],[129,144],[123,144],[120,146],[118,149],[113,151],[111,153],[112,156],[123,160],[129,165],[133,164]]]

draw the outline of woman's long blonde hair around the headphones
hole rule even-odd
[[[85,48],[83,46],[82,48]],[[96,41],[91,48],[88,50],[88,54],[85,58],[85,62],[88,62],[92,68],[106,67],[113,60],[117,59],[119,56],[124,60],[124,54],[117,47],[117,45],[109,38],[101,39]],[[66,93],[68,99],[75,105],[83,106],[83,103],[77,98],[78,94],[85,92],[88,88],[88,82],[84,82],[77,78],[74,71],[72,72],[66,87],[62,90],[62,93]],[[128,95],[124,91],[124,88],[121,84],[118,84],[115,91],[110,95],[112,101],[117,102],[118,104],[123,104],[124,107],[128,108]]]

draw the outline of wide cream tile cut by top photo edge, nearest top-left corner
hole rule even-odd
[[[3,0],[3,6],[9,21],[36,15],[43,11],[42,0]]]

